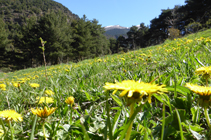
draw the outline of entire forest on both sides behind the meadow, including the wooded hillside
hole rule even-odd
[[[186,0],[162,9],[150,26],[140,21],[127,37],[107,38],[97,19],[79,18],[52,0],[0,0],[0,70],[43,65],[40,38],[48,65],[79,62],[163,43],[211,27],[211,1]],[[70,9],[71,10],[71,9]]]

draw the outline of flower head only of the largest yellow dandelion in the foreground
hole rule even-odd
[[[114,90],[113,94],[115,94],[118,90],[122,91],[119,96],[126,98],[134,99],[135,101],[140,101],[144,95],[148,96],[148,102],[151,103],[151,96],[154,93],[162,94],[163,92],[167,92],[165,85],[153,85],[151,83],[144,83],[134,80],[124,80],[121,83],[117,82],[113,83],[105,83],[104,88],[107,90]]]

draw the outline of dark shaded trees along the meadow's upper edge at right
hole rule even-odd
[[[174,39],[211,27],[210,0],[186,0],[185,3],[173,9],[161,10],[158,18],[150,21],[150,26],[141,23],[140,28],[136,26],[130,28],[127,38],[123,36],[117,38],[116,51],[160,44],[167,38]],[[110,39],[110,42],[115,41]]]

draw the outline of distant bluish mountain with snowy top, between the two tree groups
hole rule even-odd
[[[137,27],[139,27],[139,25],[137,25]],[[107,38],[117,39],[120,35],[127,38],[127,32],[130,30],[130,27],[123,27],[120,25],[110,25],[110,26],[105,26],[104,29],[106,31],[104,35]]]

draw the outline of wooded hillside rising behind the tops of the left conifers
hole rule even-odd
[[[40,17],[49,11],[61,11],[70,19],[79,19],[68,8],[53,0],[0,0],[0,15],[10,28],[16,23],[22,25],[26,18]]]

